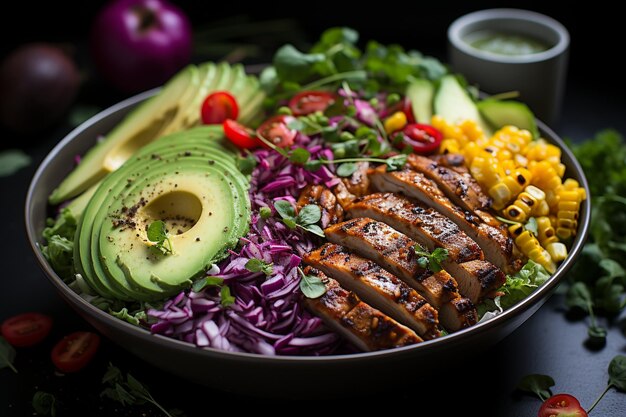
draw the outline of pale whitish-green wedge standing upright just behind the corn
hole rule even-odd
[[[448,123],[459,123],[463,120],[474,120],[486,135],[491,135],[491,128],[480,115],[476,104],[465,88],[454,75],[446,75],[435,94],[435,114],[443,117]]]

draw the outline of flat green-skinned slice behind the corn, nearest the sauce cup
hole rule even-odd
[[[513,125],[520,129],[528,130],[534,138],[539,137],[535,115],[526,104],[513,100],[486,99],[479,101],[476,105],[480,113],[494,129],[497,130],[506,125]]]

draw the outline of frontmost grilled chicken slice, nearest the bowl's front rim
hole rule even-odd
[[[319,298],[305,297],[304,305],[359,349],[383,350],[423,341],[413,330],[364,303],[320,270],[309,266],[304,273],[320,278],[326,287]]]

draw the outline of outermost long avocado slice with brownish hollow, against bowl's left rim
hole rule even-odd
[[[84,155],[81,163],[52,192],[50,204],[77,196],[151,142],[177,114],[182,95],[197,80],[198,69],[189,66],[172,78],[159,94],[133,110],[105,140]]]

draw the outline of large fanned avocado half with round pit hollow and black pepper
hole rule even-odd
[[[221,126],[197,127],[143,147],[100,183],[74,245],[77,273],[98,294],[151,301],[189,286],[247,233],[248,181]],[[166,224],[173,253],[147,238]]]

